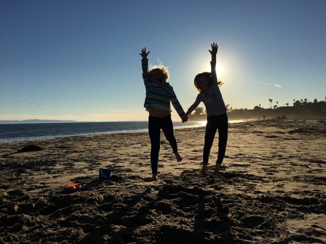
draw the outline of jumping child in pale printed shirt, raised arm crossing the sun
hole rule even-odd
[[[218,45],[213,42],[211,47],[212,50],[209,50],[212,54],[211,72],[203,72],[196,75],[194,83],[199,94],[197,95],[194,104],[192,104],[186,112],[186,115],[190,114],[201,101],[205,104],[207,111],[207,124],[203,150],[203,167],[201,169],[203,175],[207,174],[208,158],[216,130],[219,132],[219,151],[214,173],[218,173],[221,167],[228,140],[228,116],[226,114],[225,103],[219,88],[223,82],[218,80],[215,69]]]

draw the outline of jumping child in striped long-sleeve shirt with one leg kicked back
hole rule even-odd
[[[177,140],[173,131],[173,123],[171,119],[170,101],[178,112],[183,122],[188,120],[184,109],[173,90],[173,87],[167,82],[169,72],[166,66],[159,65],[157,68],[148,70],[148,55],[146,47],[139,53],[142,57],[141,68],[142,78],[146,88],[146,98],[144,107],[149,112],[148,132],[150,138],[150,165],[152,171],[152,180],[157,179],[158,153],[160,146],[160,129],[164,132],[169,141],[177,161],[181,161],[182,157],[178,152]]]

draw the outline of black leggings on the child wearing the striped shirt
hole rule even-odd
[[[173,132],[171,115],[164,118],[148,117],[148,132],[150,138],[150,165],[152,173],[157,173],[158,152],[160,146],[160,129],[163,130],[173,152],[178,152],[177,140]]]

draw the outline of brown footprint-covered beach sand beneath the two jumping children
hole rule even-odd
[[[325,243],[326,120],[230,124],[221,172],[199,174],[205,127],[0,144],[1,243]],[[112,178],[99,181],[98,169]],[[67,192],[64,186],[82,188]]]

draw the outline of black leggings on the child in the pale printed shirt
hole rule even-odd
[[[225,155],[226,143],[228,141],[228,115],[226,113],[212,115],[207,118],[203,163],[208,163],[216,130],[219,130],[219,151],[217,162],[222,163]]]

